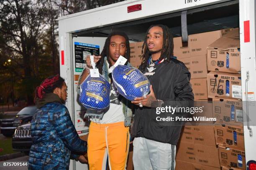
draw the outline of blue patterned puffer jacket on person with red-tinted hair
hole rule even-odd
[[[31,121],[33,145],[29,153],[29,167],[33,170],[68,170],[74,153],[87,151],[71,121],[67,107],[50,102],[40,107]]]

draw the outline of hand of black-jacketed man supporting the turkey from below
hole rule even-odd
[[[145,97],[137,97],[132,101],[134,105],[143,105],[146,107],[152,107],[152,102],[157,101],[152,85],[150,85],[150,93]]]

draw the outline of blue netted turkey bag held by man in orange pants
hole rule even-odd
[[[110,103],[109,82],[102,75],[100,77],[89,75],[81,85],[79,101],[87,109],[104,110]]]

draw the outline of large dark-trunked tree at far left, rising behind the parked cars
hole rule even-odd
[[[20,77],[26,85],[27,102],[33,102],[32,59],[38,55],[38,37],[44,28],[44,1],[3,0],[0,4],[0,48],[10,52],[14,61],[23,68]]]

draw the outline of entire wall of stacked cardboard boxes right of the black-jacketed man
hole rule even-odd
[[[174,56],[191,72],[195,105],[207,105],[202,116],[217,119],[184,126],[176,170],[245,169],[239,30],[189,35],[188,47],[176,37]]]

